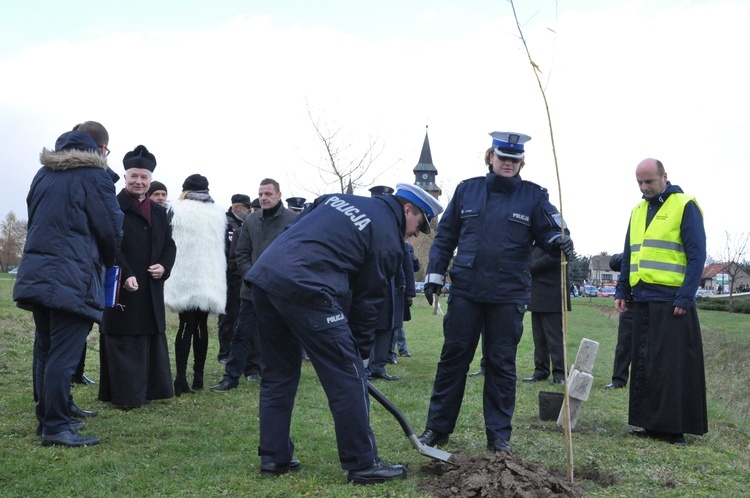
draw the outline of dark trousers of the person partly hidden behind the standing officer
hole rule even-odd
[[[534,375],[549,377],[552,364],[553,378],[564,379],[562,312],[532,311],[531,331],[534,336]]]

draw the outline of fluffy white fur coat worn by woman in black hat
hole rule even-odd
[[[227,300],[224,210],[211,202],[182,199],[173,212],[172,238],[177,257],[171,275],[164,282],[164,302],[178,313],[191,309],[224,313]]]

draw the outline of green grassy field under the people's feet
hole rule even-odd
[[[208,390],[150,403],[123,412],[96,400],[97,386],[76,386],[79,406],[99,410],[84,434],[101,439],[90,448],[43,448],[34,435],[31,387],[33,321],[11,300],[12,280],[0,276],[0,495],[2,496],[426,496],[428,479],[419,455],[398,423],[373,402],[372,425],[381,457],[408,466],[405,481],[375,487],[346,484],[335,450],[325,396],[309,363],[303,366],[292,434],[303,469],[295,475],[261,479],[258,447],[258,385],[244,380],[229,393]],[[413,354],[389,366],[400,382],[375,385],[405,413],[417,433],[424,428],[432,379],[442,344],[440,317],[418,296],[415,319],[407,325]],[[443,305],[445,306],[445,305]],[[617,316],[611,299],[578,298],[568,318],[568,359],[582,338],[600,343],[595,384],[573,434],[576,467],[596,465],[616,478],[602,487],[581,481],[585,496],[748,496],[750,489],[750,316],[701,312],[708,371],[709,430],[687,436],[678,448],[627,434],[627,389],[605,391],[610,382]],[[176,330],[169,316],[170,348]],[[528,317],[527,317],[528,321]],[[212,320],[207,386],[218,381]],[[533,373],[530,325],[518,354],[518,377]],[[479,356],[472,369],[478,366]],[[98,380],[98,336],[89,337],[86,373]],[[538,392],[562,391],[546,382],[519,381],[515,452],[530,461],[564,468],[566,449],[554,422],[538,417]],[[470,378],[450,452],[484,452],[482,378]]]

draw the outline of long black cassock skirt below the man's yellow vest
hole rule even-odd
[[[656,432],[708,432],[698,311],[675,316],[665,302],[636,302],[628,423]]]

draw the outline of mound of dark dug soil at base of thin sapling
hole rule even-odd
[[[422,465],[421,470],[430,476],[422,481],[422,491],[440,498],[579,497],[583,493],[580,484],[568,482],[564,475],[555,475],[543,465],[526,462],[512,453],[454,453],[450,461],[455,465]]]

